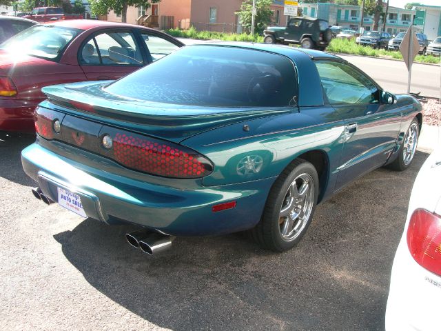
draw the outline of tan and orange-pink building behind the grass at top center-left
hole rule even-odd
[[[161,0],[151,8],[127,8],[127,23],[136,24],[141,15],[157,15],[158,28],[189,28],[220,32],[242,32],[235,14],[243,0]],[[275,0],[271,6],[275,25],[285,26],[283,5]],[[110,12],[107,21],[121,22],[121,15]]]

